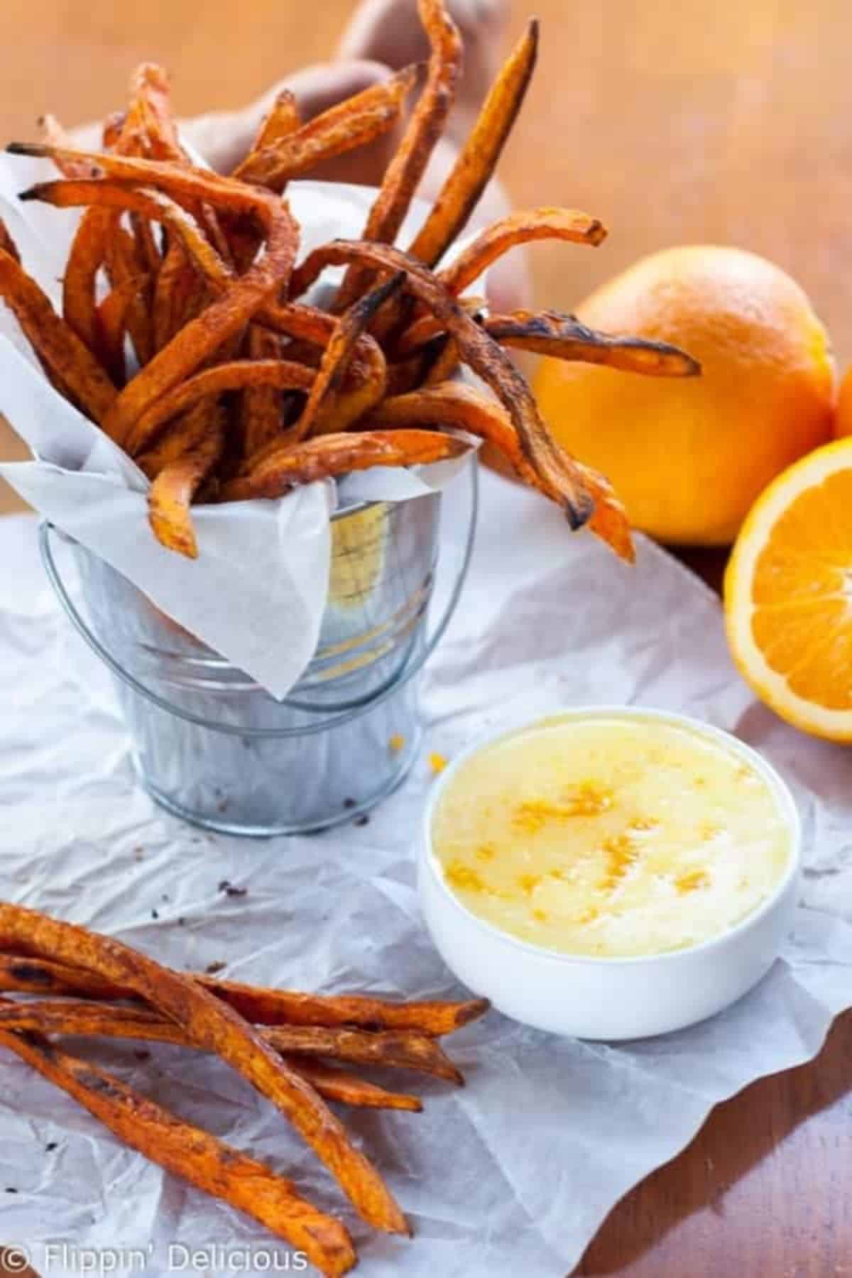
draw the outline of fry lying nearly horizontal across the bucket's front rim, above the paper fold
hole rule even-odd
[[[413,466],[457,458],[464,440],[437,431],[372,431],[364,435],[321,435],[303,443],[284,443],[247,475],[222,486],[222,501],[281,497],[295,484],[333,479],[370,466]]]

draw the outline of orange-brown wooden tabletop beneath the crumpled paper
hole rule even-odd
[[[543,54],[503,176],[519,206],[570,203],[611,227],[595,253],[536,247],[539,300],[570,308],[666,244],[741,244],[805,285],[843,362],[852,353],[847,0],[529,6],[543,19]],[[351,8],[323,0],[308,18],[298,0],[243,10],[229,0],[4,0],[0,135],[33,135],[46,109],[68,123],[103,115],[142,58],[172,69],[184,112],[238,105],[326,56]],[[528,12],[515,0],[515,31]],[[10,447],[0,437],[0,454]],[[718,580],[718,555],[692,562]],[[849,1082],[852,1019],[842,1017],[815,1062],[719,1105],[683,1154],[614,1209],[577,1272],[852,1273]]]

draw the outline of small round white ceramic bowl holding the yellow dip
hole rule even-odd
[[[544,950],[520,941],[468,910],[447,887],[432,847],[432,820],[446,786],[465,759],[536,723],[613,714],[664,720],[701,734],[741,757],[769,785],[789,827],[789,865],[752,914],[718,937],[662,955],[598,958]],[[547,714],[478,741],[445,769],[424,814],[419,854],[420,905],[447,966],[474,993],[536,1029],[588,1039],[666,1034],[701,1021],[741,998],[769,970],[787,937],[798,895],[801,824],[787,785],[765,759],[728,732],[668,711],[590,705]]]

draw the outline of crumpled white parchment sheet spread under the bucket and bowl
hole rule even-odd
[[[354,1220],[285,1120],[220,1062],[80,1045],[342,1210],[370,1278],[566,1274],[611,1206],[686,1145],[717,1102],[812,1057],[852,1002],[852,755],[754,703],[727,657],[717,599],[673,558],[641,543],[631,571],[590,535],[570,535],[534,496],[491,475],[483,489],[470,581],[424,682],[432,748],[452,755],[536,711],[600,700],[703,716],[792,782],[805,818],[805,900],[783,960],[704,1025],[608,1047],[489,1013],[450,1040],[464,1090],[427,1084],[419,1116],[347,1113],[409,1214],[413,1242]],[[425,758],[364,827],[249,842],[160,813],[135,786],[102,679],[47,590],[34,532],[28,518],[0,527],[0,895],[178,967],[225,961],[235,978],[307,989],[460,993],[414,891]],[[224,878],[248,895],[218,892]],[[286,1255],[0,1052],[6,1186],[18,1192],[0,1192],[0,1240],[28,1243],[37,1268],[49,1242],[148,1249],[152,1275],[170,1272],[170,1243]],[[49,1272],[74,1270],[54,1259]],[[213,1260],[207,1272],[227,1269]]]

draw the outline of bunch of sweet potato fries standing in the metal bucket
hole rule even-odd
[[[599,244],[586,213],[534,208],[478,234],[447,266],[491,179],[536,58],[531,22],[499,72],[438,198],[404,252],[391,247],[452,107],[462,47],[445,0],[419,0],[430,58],[303,123],[282,93],[230,176],[193,165],[166,77],[144,64],[129,109],[103,127],[103,151],[15,143],[61,173],[20,194],[84,212],[64,276],[63,316],[24,272],[0,229],[0,298],[46,374],[152,481],[149,519],[164,546],[194,557],[193,501],[280,497],[294,484],[376,465],[457,455],[480,436],[517,474],[632,556],[607,481],[565,452],[506,348],[662,376],[697,364],[660,343],[609,337],[570,314],[491,314],[465,291],[516,244]],[[423,87],[406,115],[415,84]],[[299,226],[284,193],[323,160],[402,137],[356,242],[296,262]],[[158,227],[155,233],[153,227]],[[330,309],[305,300],[327,266],[346,268]],[[473,369],[491,394],[455,380]],[[450,428],[450,429],[447,429]]]

